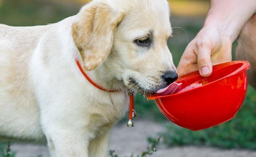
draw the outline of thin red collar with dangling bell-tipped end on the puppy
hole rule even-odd
[[[82,68],[82,66],[80,65],[78,59],[76,59],[76,65],[78,66],[79,70],[81,71],[81,73],[84,75],[84,77],[96,88],[100,89],[100,90],[104,90],[106,92],[118,92],[118,90],[107,90],[101,86],[99,86],[98,84],[96,84],[95,82],[93,82],[93,80],[90,79],[90,77],[88,77],[88,75],[86,75],[86,73],[84,72],[84,69]],[[129,90],[128,91],[129,94],[129,98],[130,98],[130,108],[129,108],[129,120],[127,122],[127,126],[128,127],[133,127],[134,126],[134,122],[132,120],[133,117],[136,117],[136,111],[134,109],[134,91],[133,90]]]

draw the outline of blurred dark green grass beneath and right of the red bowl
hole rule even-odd
[[[222,148],[256,149],[256,92],[248,88],[244,104],[229,122],[201,131],[169,125],[161,133],[164,143],[172,145],[207,145]]]

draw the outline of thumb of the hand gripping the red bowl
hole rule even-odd
[[[197,65],[202,77],[209,77],[212,74],[211,50],[201,48],[197,54]]]

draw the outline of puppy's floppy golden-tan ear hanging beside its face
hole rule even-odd
[[[108,4],[96,3],[82,8],[77,16],[78,21],[72,24],[72,36],[84,68],[90,71],[107,59],[124,13],[114,11]]]

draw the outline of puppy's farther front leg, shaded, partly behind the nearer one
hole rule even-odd
[[[108,139],[110,135],[110,128],[101,136],[95,137],[90,141],[89,157],[106,157],[108,149]]]

